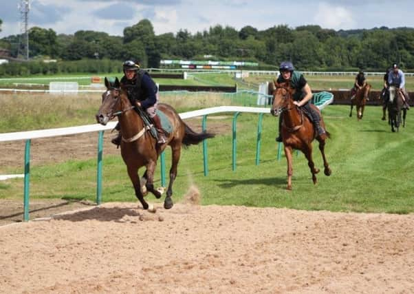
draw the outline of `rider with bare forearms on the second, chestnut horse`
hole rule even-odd
[[[317,136],[326,136],[325,129],[320,126],[320,114],[311,107],[312,90],[307,84],[303,74],[294,70],[290,61],[283,61],[279,67],[279,71],[281,74],[277,78],[277,83],[290,83],[290,87],[296,90],[293,94],[294,104],[305,108],[307,113],[312,116],[312,123],[315,126]],[[279,136],[276,138],[277,142],[282,142],[282,115],[283,113],[279,116]]]

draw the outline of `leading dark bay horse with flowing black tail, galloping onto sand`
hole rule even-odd
[[[120,82],[116,78],[114,83],[109,83],[105,78],[107,91],[102,94],[102,105],[96,114],[96,120],[102,125],[106,125],[109,120],[118,116],[121,126],[121,155],[127,165],[128,176],[131,178],[135,196],[140,200],[144,209],[149,209],[149,204],[144,200],[146,191],[150,191],[156,198],[161,197],[160,191],[154,189],[153,176],[157,165],[158,156],[166,148],[171,147],[172,165],[170,169],[170,182],[166,191],[164,208],[173,207],[173,182],[177,176],[177,165],[181,154],[182,145],[196,145],[206,138],[213,138],[214,134],[209,132],[196,133],[186,123],[182,121],[177,112],[170,105],[160,103],[158,109],[164,112],[173,127],[173,131],[168,135],[164,145],[157,145],[157,140],[148,132],[142,117],[134,110],[135,106],[131,105],[127,92],[120,88]],[[140,176],[138,169],[146,167],[143,175],[146,180],[145,186],[140,185]],[[144,181],[145,182],[145,181]],[[142,190],[141,190],[142,188]],[[146,191],[144,191],[146,189]],[[152,207],[151,207],[152,209]]]

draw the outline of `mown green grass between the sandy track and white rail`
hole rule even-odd
[[[237,171],[232,171],[231,130],[208,140],[209,175],[203,174],[202,148],[182,151],[174,185],[175,201],[182,199],[190,185],[198,187],[202,204],[235,204],[252,207],[287,207],[305,210],[360,211],[386,213],[414,212],[414,130],[410,116],[405,129],[391,133],[380,120],[380,107],[367,107],[363,120],[349,118],[349,108],[330,105],[323,111],[332,138],[326,152],[333,174],[318,174],[313,185],[303,154],[294,156],[293,191],[286,191],[286,162],[276,160],[276,118],[264,116],[260,165],[254,164],[257,119],[241,114],[237,120]],[[214,122],[231,125],[232,116]],[[213,122],[208,120],[207,125]],[[214,130],[214,129],[213,129]],[[114,147],[115,148],[115,147]],[[170,151],[166,152],[167,171]],[[314,160],[323,167],[317,145]],[[120,156],[105,156],[103,201],[135,201],[131,182]],[[21,173],[9,170],[10,173]],[[140,174],[142,174],[143,170]],[[168,172],[167,172],[168,174]],[[69,160],[57,165],[33,167],[31,198],[94,200],[96,158]],[[160,171],[155,174],[160,185]],[[23,199],[23,180],[0,183],[0,198]],[[153,196],[147,198],[157,202]]]

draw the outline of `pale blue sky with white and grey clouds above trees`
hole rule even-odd
[[[155,34],[191,33],[214,25],[240,30],[251,25],[265,30],[274,25],[320,25],[334,30],[386,26],[414,28],[413,0],[29,0],[29,28],[51,28],[57,34],[78,30],[122,36],[124,28],[149,19]],[[0,38],[19,34],[22,0],[0,0]],[[290,3],[288,3],[290,2]],[[395,11],[395,12],[393,12]]]

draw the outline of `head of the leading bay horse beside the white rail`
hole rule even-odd
[[[96,114],[96,120],[101,125],[107,125],[114,114],[121,110],[120,96],[122,90],[118,78],[115,78],[115,81],[109,81],[105,77],[105,87],[107,87],[107,90],[102,94],[102,105],[100,105],[98,114]]]

